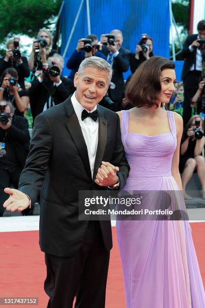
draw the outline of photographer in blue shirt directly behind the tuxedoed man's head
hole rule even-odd
[[[81,62],[85,58],[96,56],[106,60],[105,55],[99,51],[99,48],[100,45],[98,45],[98,38],[94,34],[90,34],[86,37],[86,39],[82,38],[78,41],[76,49],[72,53],[71,57],[67,60],[66,64],[67,68],[72,69],[69,75],[71,80],[74,80],[74,75],[78,71]]]

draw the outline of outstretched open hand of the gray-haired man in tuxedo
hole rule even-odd
[[[14,212],[18,210],[18,212],[21,212],[30,205],[28,196],[20,190],[7,187],[4,191],[10,195],[9,199],[3,204],[7,211]]]

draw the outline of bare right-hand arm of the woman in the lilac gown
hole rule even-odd
[[[172,159],[172,176],[177,182],[177,185],[180,190],[182,189],[181,177],[179,173],[179,149],[180,149],[180,142],[181,136],[183,132],[183,120],[182,117],[174,112],[175,124],[176,124],[176,135],[177,135],[177,147],[173,155]]]

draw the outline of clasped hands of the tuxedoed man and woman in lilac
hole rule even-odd
[[[118,167],[115,167],[108,162],[102,162],[102,165],[98,169],[95,183],[99,186],[113,186],[119,179],[116,174],[118,171]]]

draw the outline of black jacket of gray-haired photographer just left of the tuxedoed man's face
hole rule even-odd
[[[46,77],[42,83],[35,80],[29,89],[31,113],[33,119],[37,117],[42,111],[48,97],[53,97],[55,105],[64,102],[72,93],[75,88],[73,81],[69,78],[60,76],[62,83],[58,87],[53,86],[53,82]]]

